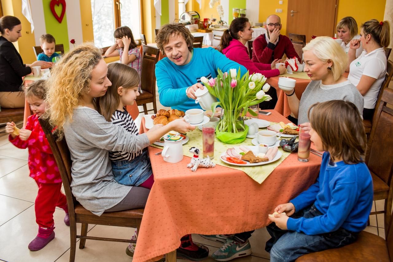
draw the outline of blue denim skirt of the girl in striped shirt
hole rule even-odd
[[[112,172],[116,182],[119,184],[139,186],[153,173],[148,151],[143,151],[131,161],[121,160],[112,162]]]

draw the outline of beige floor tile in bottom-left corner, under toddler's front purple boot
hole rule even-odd
[[[55,261],[70,248],[70,228],[63,222],[64,211],[54,214],[55,239],[39,251],[29,251],[28,245],[37,235],[34,206],[0,226],[0,258],[6,261]],[[92,225],[93,226],[93,225]],[[80,232],[80,224],[77,224]],[[78,245],[78,244],[77,244]],[[101,260],[103,261],[103,260]]]

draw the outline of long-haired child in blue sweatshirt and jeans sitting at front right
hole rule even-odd
[[[266,242],[270,261],[294,261],[301,255],[351,244],[367,226],[373,180],[360,155],[366,136],[356,106],[348,101],[316,103],[309,109],[311,141],[322,157],[319,177],[269,217]],[[285,212],[285,214],[284,214]]]

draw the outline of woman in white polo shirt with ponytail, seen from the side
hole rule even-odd
[[[353,39],[348,52],[348,80],[356,86],[364,98],[363,118],[371,120],[374,115],[378,92],[386,74],[385,50],[390,42],[388,21],[369,20],[360,27],[360,39]],[[362,54],[355,58],[356,49],[363,46]]]

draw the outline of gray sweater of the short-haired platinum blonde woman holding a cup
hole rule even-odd
[[[356,105],[361,116],[363,116],[364,100],[362,94],[349,81],[335,85],[323,85],[321,80],[311,81],[304,90],[299,104],[298,124],[310,122],[307,113],[311,105],[317,102],[330,100],[344,100]]]

